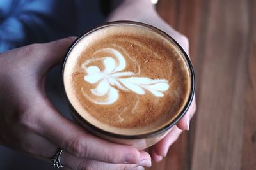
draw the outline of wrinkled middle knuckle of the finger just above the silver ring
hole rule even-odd
[[[70,138],[64,145],[70,153],[77,157],[84,157],[86,156],[86,153],[88,153],[88,147],[86,145],[86,141],[84,140],[84,138]]]

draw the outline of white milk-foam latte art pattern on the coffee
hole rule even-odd
[[[90,99],[96,104],[113,104],[118,100],[119,90],[126,92],[134,92],[136,94],[143,95],[146,91],[151,92],[156,97],[163,97],[163,92],[169,89],[168,81],[166,79],[151,79],[147,77],[138,77],[139,73],[133,73],[131,71],[123,71],[126,66],[126,62],[122,53],[113,48],[104,48],[98,52],[109,52],[113,57],[102,57],[100,59],[104,64],[104,70],[100,70],[97,66],[89,66],[95,59],[86,60],[82,64],[82,68],[86,71],[84,81],[97,84],[95,89],[90,89],[90,92],[95,97],[90,97],[84,89],[82,92],[85,97]],[[139,66],[138,66],[139,67]],[[140,67],[139,67],[140,68]],[[123,72],[122,72],[123,71]]]

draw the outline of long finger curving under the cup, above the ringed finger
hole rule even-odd
[[[58,113],[47,99],[41,102],[41,106],[44,114],[40,115],[38,124],[44,128],[35,131],[72,155],[109,163],[139,162],[141,153],[136,148],[111,143],[86,133]]]

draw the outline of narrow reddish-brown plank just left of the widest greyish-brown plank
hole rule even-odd
[[[205,21],[203,20],[205,15],[205,3],[202,0],[194,1],[180,1],[181,13],[179,13],[179,25],[177,30],[186,35],[189,39],[189,52],[190,58],[193,63],[195,75],[196,75],[196,89],[200,89],[200,73],[202,69],[202,49],[204,48],[204,36],[205,36]],[[196,90],[196,102],[200,101],[198,97],[199,90]],[[190,123],[190,129],[187,136],[187,143],[184,146],[184,158],[186,160],[180,160],[180,164],[186,164],[186,169],[191,169],[191,161],[193,154],[193,145],[195,140],[195,125],[197,114],[193,117]]]

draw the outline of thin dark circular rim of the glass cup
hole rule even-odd
[[[120,25],[120,24],[139,25],[139,26],[142,26],[142,27],[147,27],[149,29],[152,29],[153,31],[156,31],[157,33],[161,34],[165,38],[168,38],[171,41],[173,41],[173,43],[175,43],[175,45],[179,48],[180,52],[182,52],[182,54],[184,55],[184,58],[186,59],[188,69],[189,69],[189,74],[190,74],[190,77],[191,77],[191,89],[190,89],[190,92],[189,92],[188,101],[184,105],[184,108],[182,109],[182,111],[180,111],[180,113],[177,115],[177,117],[175,117],[172,121],[170,121],[164,127],[161,127],[160,129],[156,129],[156,131],[148,132],[148,133],[145,133],[145,134],[135,134],[135,135],[127,134],[126,135],[126,134],[116,134],[116,133],[113,133],[113,132],[105,131],[104,129],[100,129],[99,127],[96,127],[95,125],[90,124],[90,122],[86,121],[83,117],[81,117],[81,115],[79,115],[79,113],[77,113],[76,109],[72,106],[70,100],[68,99],[67,92],[65,91],[65,85],[64,85],[65,63],[67,62],[69,53],[72,51],[74,46],[76,46],[76,44],[79,42],[79,39],[83,38],[84,36],[87,36],[88,34],[94,32],[94,31],[97,31],[98,29],[102,29],[102,28],[108,27],[110,25]],[[63,61],[61,63],[61,90],[62,90],[63,98],[65,99],[65,102],[68,104],[70,110],[72,110],[72,113],[70,113],[70,114],[74,115],[76,118],[78,118],[79,121],[81,121],[84,125],[86,125],[86,127],[90,127],[93,131],[96,131],[99,134],[104,134],[105,136],[110,136],[110,137],[113,137],[113,138],[118,138],[118,139],[143,139],[143,138],[150,138],[152,136],[157,136],[158,134],[161,134],[161,133],[167,131],[168,129],[173,127],[173,125],[177,124],[177,122],[179,122],[179,120],[186,114],[186,112],[188,111],[189,106],[191,105],[191,103],[193,101],[193,97],[195,95],[195,73],[194,73],[194,70],[193,70],[193,67],[192,67],[192,64],[191,64],[191,60],[188,57],[188,54],[179,45],[179,43],[177,43],[177,41],[175,41],[175,39],[173,39],[171,36],[166,34],[164,31],[161,31],[161,29],[157,29],[156,27],[154,27],[152,25],[148,25],[148,24],[145,24],[145,23],[142,23],[142,22],[129,21],[129,20],[118,20],[118,21],[113,21],[113,22],[106,22],[106,23],[101,24],[97,27],[93,27],[92,29],[89,29],[88,31],[84,31],[82,34],[80,34],[74,40],[72,45],[70,45],[67,52],[65,53],[65,57],[63,58]]]

